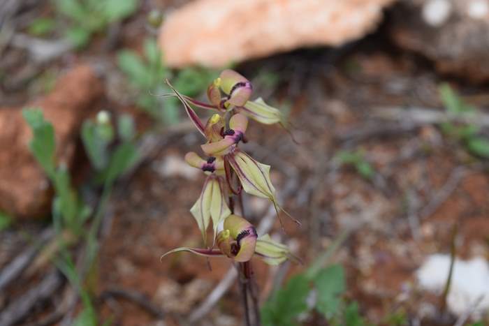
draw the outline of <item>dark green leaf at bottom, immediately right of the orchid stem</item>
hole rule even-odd
[[[303,274],[293,276],[261,309],[263,325],[297,325],[297,317],[308,310],[306,301],[310,291],[309,281]]]

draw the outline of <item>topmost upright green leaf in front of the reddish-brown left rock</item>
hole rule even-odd
[[[50,122],[45,121],[43,112],[39,109],[24,109],[22,115],[31,126],[33,138],[29,148],[38,163],[50,178],[54,176],[54,128]]]

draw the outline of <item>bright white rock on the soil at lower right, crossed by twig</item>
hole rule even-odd
[[[449,269],[450,255],[430,255],[416,271],[418,283],[421,288],[439,294],[444,290]],[[489,265],[485,259],[455,259],[446,302],[455,315],[472,311],[475,320],[489,309]]]

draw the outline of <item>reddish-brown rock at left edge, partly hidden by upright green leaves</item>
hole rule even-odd
[[[52,122],[57,158],[68,166],[83,118],[102,93],[92,68],[79,66],[61,77],[51,94],[24,105],[41,108]],[[49,212],[52,191],[29,151],[32,133],[20,109],[0,108],[0,211],[20,217],[41,216]]]

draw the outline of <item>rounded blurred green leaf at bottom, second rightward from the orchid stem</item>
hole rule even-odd
[[[333,318],[340,308],[345,290],[344,270],[341,265],[331,265],[321,270],[314,279],[317,291],[316,309],[326,318]]]

